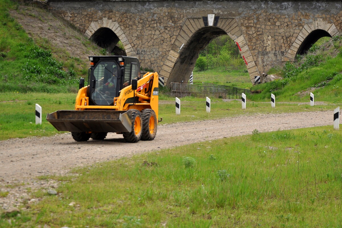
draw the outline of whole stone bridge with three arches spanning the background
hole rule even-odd
[[[108,50],[121,40],[127,56],[171,82],[188,81],[199,51],[227,34],[239,46],[252,83],[292,61],[321,37],[342,32],[336,0],[48,0],[50,10]]]

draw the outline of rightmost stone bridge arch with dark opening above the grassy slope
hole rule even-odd
[[[292,43],[290,49],[282,57],[282,61],[294,61],[296,55],[304,54],[320,38],[333,37],[338,35],[338,33],[339,31],[333,23],[328,23],[321,19],[313,21],[312,23],[306,23]]]

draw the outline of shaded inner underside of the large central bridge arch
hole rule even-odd
[[[227,35],[227,33],[223,29],[214,26],[197,30],[181,49],[179,57],[170,72],[168,85],[171,82],[187,81],[195,67],[199,51],[204,49],[212,39],[222,35]]]

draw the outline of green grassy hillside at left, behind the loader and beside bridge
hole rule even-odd
[[[48,12],[31,6],[24,8],[11,0],[0,0],[0,80],[4,82],[0,92],[76,92],[78,79],[87,76],[88,67],[84,60],[57,48],[49,38],[34,32],[30,32],[29,37],[28,31],[11,14],[23,20],[39,21],[50,26],[47,29],[58,30],[54,24],[48,25],[48,17],[58,21]],[[76,36],[77,31],[71,32],[71,27],[68,30],[71,40],[71,35]],[[80,43],[85,42],[86,38],[81,38],[80,33],[78,36]],[[93,45],[87,42],[83,45]]]

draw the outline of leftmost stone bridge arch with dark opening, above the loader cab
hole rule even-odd
[[[107,50],[113,50],[120,40],[127,56],[138,57],[119,23],[113,22],[111,19],[108,20],[107,17],[103,17],[98,21],[92,21],[84,35],[89,39],[93,39],[97,45]]]

